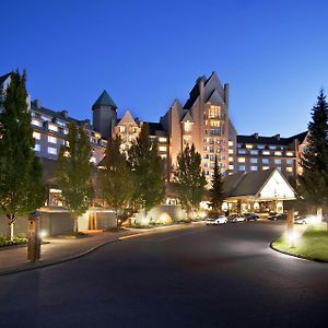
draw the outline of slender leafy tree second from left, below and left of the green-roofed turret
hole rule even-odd
[[[67,140],[60,148],[56,175],[63,204],[72,212],[75,233],[78,218],[86,212],[92,201],[90,153],[91,145],[85,130],[71,121]]]

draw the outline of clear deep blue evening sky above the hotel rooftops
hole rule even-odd
[[[328,92],[326,0],[0,2],[0,75],[26,69],[32,98],[75,118],[106,89],[159,121],[216,71],[238,134],[289,137]]]

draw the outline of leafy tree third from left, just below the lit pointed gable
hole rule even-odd
[[[107,206],[115,210],[117,226],[118,211],[124,211],[130,203],[134,184],[126,155],[120,152],[121,139],[116,136],[108,140],[105,168],[99,173],[102,195]]]

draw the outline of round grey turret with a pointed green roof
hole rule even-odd
[[[117,119],[117,106],[106,90],[92,106],[93,127],[103,138],[112,138]]]

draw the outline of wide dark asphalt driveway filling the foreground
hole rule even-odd
[[[0,278],[0,327],[327,327],[328,265],[271,250],[281,223],[148,235]]]

